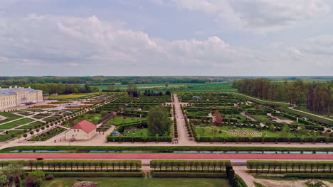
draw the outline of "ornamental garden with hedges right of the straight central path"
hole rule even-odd
[[[332,142],[332,124],[234,94],[179,94],[189,137],[199,142]]]

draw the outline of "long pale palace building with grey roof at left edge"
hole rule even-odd
[[[20,106],[23,103],[37,103],[43,101],[43,91],[34,90],[30,87],[23,88],[15,86],[9,89],[0,87],[0,109]]]

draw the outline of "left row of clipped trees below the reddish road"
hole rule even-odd
[[[21,164],[33,170],[73,171],[73,170],[138,170],[142,166],[141,160],[28,160],[1,161],[1,169],[10,164]]]

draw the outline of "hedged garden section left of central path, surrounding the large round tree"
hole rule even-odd
[[[171,96],[140,96],[139,98],[123,96],[96,109],[97,112],[117,111],[115,119],[107,122],[117,128],[107,136],[109,142],[171,142],[171,126],[163,136],[157,136],[147,129],[147,115],[150,108],[164,106],[171,102]],[[171,106],[164,106],[170,112]]]

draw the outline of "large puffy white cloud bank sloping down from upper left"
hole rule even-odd
[[[218,37],[167,41],[115,28],[97,17],[29,15],[0,21],[0,52],[10,62],[97,66],[223,67],[256,63],[254,52]]]

